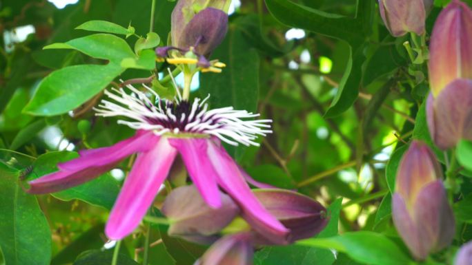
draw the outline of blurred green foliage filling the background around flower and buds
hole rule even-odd
[[[444,4],[435,1],[429,33]],[[150,48],[167,43],[174,1],[157,0],[158,36],[148,35],[139,47],[135,36],[125,38],[128,25],[146,38],[150,6],[150,0],[80,0],[57,9],[41,0],[0,1],[0,33],[35,27],[25,41],[0,39],[0,264],[110,262],[103,230],[120,180],[107,173],[33,196],[19,178],[43,176],[77,156],[74,151],[132,135],[113,118],[95,117],[92,106],[110,84],[148,77],[155,67]],[[91,32],[94,25],[76,29],[95,20],[121,27],[110,26],[112,34]],[[306,36],[287,41],[291,28]],[[413,137],[432,145],[424,114],[426,63],[411,63],[402,45],[408,39],[390,36],[374,0],[243,0],[230,16],[226,39],[212,56],[228,67],[222,74],[200,74],[193,96],[211,94],[212,107],[231,105],[273,119],[274,134],[262,147],[238,147],[232,155],[256,180],[297,189],[331,214],[317,237],[262,248],[255,264],[414,263],[391,221],[404,142]],[[302,60],[307,53],[311,60]],[[171,88],[161,89],[166,94]],[[60,131],[55,145],[45,136],[50,128]],[[73,150],[64,151],[63,142]],[[461,142],[458,158],[465,168],[455,194],[459,232],[429,264],[451,264],[458,246],[472,240],[471,143]],[[128,171],[127,162],[119,168]],[[166,229],[151,226],[150,241],[162,243],[150,248],[150,264],[193,264],[207,248],[168,237]],[[124,241],[119,264],[141,262],[145,231],[140,227]]]

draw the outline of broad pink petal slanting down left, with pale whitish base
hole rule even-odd
[[[177,150],[165,137],[150,151],[139,153],[108,218],[105,233],[110,239],[121,240],[136,229],[153,204],[176,155]]]

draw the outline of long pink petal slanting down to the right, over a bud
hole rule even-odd
[[[239,204],[243,217],[256,231],[268,239],[279,244],[286,244],[289,230],[257,200],[226,150],[208,140],[208,156],[218,174],[219,186]]]

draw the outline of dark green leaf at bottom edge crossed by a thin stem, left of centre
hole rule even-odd
[[[111,264],[113,251],[86,251],[79,255],[73,265],[108,265]],[[117,265],[139,265],[134,259],[119,253]]]

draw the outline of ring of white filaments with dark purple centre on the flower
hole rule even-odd
[[[272,120],[248,120],[259,114],[235,110],[233,107],[208,109],[206,100],[209,95],[204,100],[195,98],[193,103],[180,98],[170,101],[159,98],[152,89],[145,86],[157,98],[153,104],[144,92],[131,85],[127,87],[131,90],[131,95],[126,94],[124,89],[106,91],[105,94],[115,102],[102,100],[101,105],[95,109],[97,115],[130,118],[132,121],[119,120],[118,123],[132,129],[150,130],[157,136],[201,134],[202,137],[216,136],[230,145],[259,145],[254,141],[257,136],[266,136],[272,132],[269,124]]]

